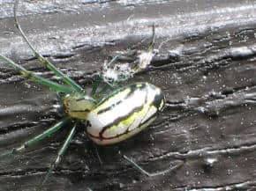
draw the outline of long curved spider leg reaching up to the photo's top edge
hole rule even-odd
[[[72,88],[76,92],[84,92],[83,88],[79,84],[77,84],[75,81],[73,81],[72,78],[67,77],[66,75],[64,75],[64,73],[62,71],[58,70],[55,65],[53,65],[51,62],[49,62],[46,58],[44,58],[40,53],[38,53],[35,50],[34,46],[27,39],[26,34],[23,32],[22,28],[19,25],[19,20],[17,18],[18,4],[19,4],[19,0],[16,0],[15,4],[14,4],[14,9],[13,9],[15,26],[18,28],[19,33],[21,33],[22,38],[26,41],[29,48],[31,48],[34,55],[39,59],[39,61],[43,65],[45,65],[49,70],[53,71],[56,74],[57,77],[60,77],[64,81],[64,83],[71,85]]]

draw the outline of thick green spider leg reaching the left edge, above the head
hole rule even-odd
[[[0,60],[3,60],[4,62],[7,62],[9,65],[11,65],[11,67],[13,67],[16,70],[19,70],[19,73],[22,76],[27,77],[27,78],[31,79],[32,81],[34,81],[38,84],[45,85],[45,86],[53,89],[56,92],[65,92],[65,93],[73,92],[71,87],[68,87],[68,86],[65,86],[65,85],[62,85],[62,84],[57,84],[55,82],[50,81],[49,79],[37,76],[32,71],[26,70],[24,67],[22,67],[19,64],[11,61],[11,59],[5,57],[4,55],[0,55]]]

